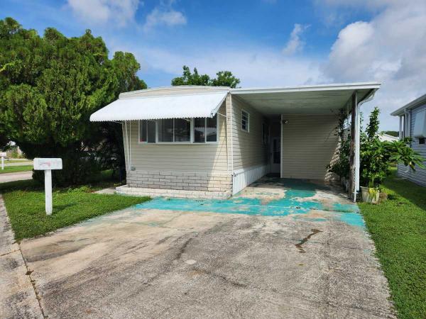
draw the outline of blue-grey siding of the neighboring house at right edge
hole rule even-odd
[[[413,108],[411,111],[411,133],[413,135],[415,117],[417,113],[422,110],[426,110],[426,105],[418,106],[417,108]],[[408,134],[407,134],[408,135]],[[415,152],[420,153],[423,158],[426,159],[426,145],[420,144],[418,138],[413,138],[413,142],[411,143],[411,148],[415,150]],[[426,160],[423,162],[426,165]],[[413,172],[410,168],[405,167],[404,164],[398,164],[398,175],[400,177],[404,177],[405,179],[409,179],[416,184],[426,186],[426,169],[421,169],[419,167],[415,168],[415,172]]]

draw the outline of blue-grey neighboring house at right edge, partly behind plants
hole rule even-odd
[[[426,159],[426,94],[402,108],[398,108],[391,115],[400,118],[399,138],[413,138],[410,147]],[[426,161],[423,164],[426,165]],[[416,167],[415,172],[413,172],[410,167],[398,164],[398,175],[410,179],[416,184],[426,186],[426,169]]]

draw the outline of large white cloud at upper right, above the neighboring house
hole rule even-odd
[[[327,0],[339,6],[336,0]],[[322,68],[334,82],[378,81],[382,87],[375,105],[381,108],[381,127],[398,128],[390,113],[426,93],[426,1],[351,0],[343,6],[363,6],[378,13],[371,21],[343,28]]]

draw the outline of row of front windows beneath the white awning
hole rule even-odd
[[[193,129],[192,129],[193,128]],[[139,121],[139,142],[217,142],[217,115]]]

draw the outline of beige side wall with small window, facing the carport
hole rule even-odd
[[[268,147],[262,141],[262,123],[266,121],[261,113],[236,96],[232,103],[232,147],[234,149],[234,170],[267,164]],[[250,114],[249,132],[241,129],[241,110]]]

